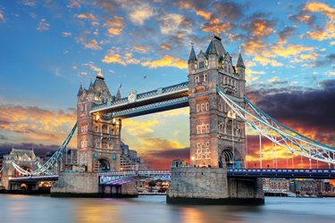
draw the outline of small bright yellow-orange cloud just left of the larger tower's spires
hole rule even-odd
[[[156,61],[141,62],[144,67],[155,69],[158,67],[176,67],[179,69],[187,69],[188,63],[173,57],[172,55],[164,55],[161,59]]]

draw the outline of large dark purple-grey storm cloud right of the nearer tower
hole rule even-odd
[[[251,99],[257,99],[256,105],[274,119],[287,123],[291,128],[314,131],[315,137],[329,135],[334,130],[335,79],[319,83],[319,88],[263,88],[251,91]],[[260,96],[262,95],[262,96]],[[309,130],[307,130],[309,129]],[[335,142],[331,141],[332,144]]]

